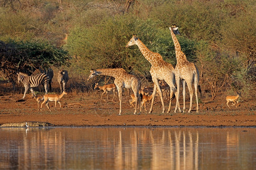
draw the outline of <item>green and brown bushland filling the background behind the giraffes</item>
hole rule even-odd
[[[181,32],[177,36],[181,50],[199,67],[200,85],[211,92],[212,99],[227,88],[255,90],[254,0],[134,0],[128,5],[127,2],[5,0],[0,2],[0,40],[13,40],[7,44],[15,48],[20,41],[33,44],[38,40],[53,44],[53,49],[63,46],[65,53],[72,56],[71,67],[65,69],[74,76],[86,76],[92,68],[123,67],[150,80],[150,63],[137,46],[126,49],[125,45],[136,33],[148,49],[175,66],[168,27],[176,24]],[[27,50],[20,48],[21,52],[37,55],[32,52],[37,50],[32,49],[34,45],[24,44]],[[26,58],[22,60],[25,61]],[[65,62],[61,65],[65,67]]]

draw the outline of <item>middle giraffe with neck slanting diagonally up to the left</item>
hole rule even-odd
[[[149,113],[151,113],[153,109],[156,88],[158,89],[158,92],[160,95],[160,99],[163,107],[163,113],[164,113],[166,109],[164,107],[163,93],[162,93],[162,90],[160,89],[158,80],[166,81],[166,83],[171,87],[170,96],[173,96],[174,92],[176,91],[176,87],[174,85],[175,84],[174,67],[171,65],[171,63],[165,62],[163,60],[163,57],[159,53],[151,52],[151,50],[149,50],[146,47],[146,45],[144,45],[143,42],[138,39],[136,35],[133,35],[133,37],[127,43],[126,47],[129,47],[131,45],[138,45],[139,50],[141,50],[143,56],[147,59],[148,62],[151,63],[150,74],[152,76],[152,81],[154,82],[154,91],[153,91],[153,97],[152,97],[151,108]],[[171,111],[172,99],[173,98],[170,99],[170,104],[167,111],[168,113]]]

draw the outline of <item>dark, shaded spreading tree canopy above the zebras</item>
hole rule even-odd
[[[31,74],[35,69],[69,65],[69,57],[63,49],[48,42],[0,41],[0,71],[11,80],[15,73]]]

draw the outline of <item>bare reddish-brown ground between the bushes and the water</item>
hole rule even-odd
[[[118,97],[111,101],[113,94],[109,94],[110,100],[100,100],[101,93],[69,93],[61,99],[61,108],[58,103],[54,108],[54,102],[50,102],[51,112],[44,106],[42,111],[38,111],[38,105],[30,94],[20,102],[17,100],[22,98],[22,94],[2,95],[0,125],[40,121],[56,126],[256,126],[256,105],[250,100],[241,100],[237,107],[230,106],[232,109],[227,107],[225,96],[213,102],[201,101],[199,113],[196,113],[193,101],[191,113],[174,113],[174,99],[171,113],[164,114],[160,101],[155,101],[151,114],[148,114],[150,103],[147,104],[147,112],[143,108],[141,114],[134,115],[134,108],[130,108],[129,104],[130,97],[123,96],[122,115],[119,116]],[[168,101],[165,102],[168,109]],[[189,103],[186,106],[188,111]]]

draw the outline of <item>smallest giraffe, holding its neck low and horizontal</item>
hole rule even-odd
[[[141,80],[135,75],[126,73],[124,69],[97,69],[90,70],[90,75],[87,80],[93,78],[96,75],[108,75],[115,78],[114,84],[117,87],[120,109],[119,115],[122,113],[122,88],[131,88],[135,96],[135,111],[137,112],[137,104],[139,105],[139,110],[141,112],[141,96],[139,96],[139,90],[141,89]],[[139,113],[140,114],[140,113]]]

